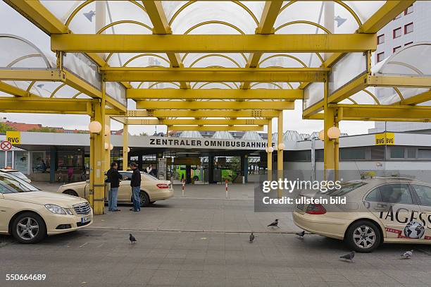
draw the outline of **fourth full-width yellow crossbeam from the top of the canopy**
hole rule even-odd
[[[137,101],[137,109],[294,109],[294,102],[180,102],[180,101]],[[207,115],[208,116],[208,115]]]

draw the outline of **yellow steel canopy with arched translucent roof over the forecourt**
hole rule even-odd
[[[371,69],[376,32],[413,2],[6,0],[50,36],[52,52],[1,35],[0,91],[12,97],[0,97],[0,111],[88,114],[101,123],[91,137],[95,202],[101,202],[109,116],[124,124],[125,159],[130,124],[267,126],[272,134],[277,118],[282,170],[282,111],[304,99],[304,118],[325,123],[325,169],[337,169],[337,140],[326,132],[340,120],[426,119],[427,106],[416,104],[430,97],[430,73],[416,65],[429,67],[430,56],[406,63],[412,46]],[[413,69],[398,71],[399,61]],[[394,90],[399,101],[372,86]],[[364,96],[373,104],[359,104]],[[127,109],[131,101],[137,109]],[[386,112],[392,109],[396,116]]]

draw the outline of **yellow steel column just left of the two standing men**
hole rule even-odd
[[[102,127],[100,133],[94,134],[94,214],[104,214],[105,204],[105,99],[105,83],[102,82],[102,98],[100,99],[100,102],[96,104],[94,112],[94,120],[99,121]]]

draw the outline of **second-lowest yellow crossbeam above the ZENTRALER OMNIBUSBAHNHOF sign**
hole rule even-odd
[[[268,123],[268,120],[266,119],[188,119],[188,118],[175,118],[175,119],[137,119],[137,118],[125,118],[124,123],[127,125],[166,125],[166,126],[173,126],[173,125],[240,125],[240,126],[262,126],[266,123]]]

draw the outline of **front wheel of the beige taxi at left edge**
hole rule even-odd
[[[38,214],[24,212],[13,221],[12,235],[20,243],[38,243],[46,235],[45,222]]]

